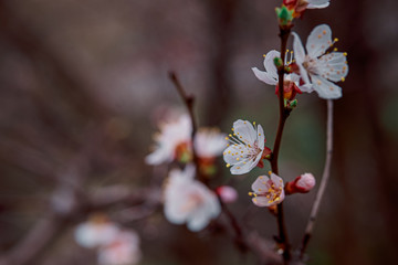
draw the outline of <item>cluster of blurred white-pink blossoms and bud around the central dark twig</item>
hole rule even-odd
[[[155,138],[157,147],[146,157],[149,165],[178,161],[185,169],[172,169],[164,188],[164,211],[174,224],[187,224],[191,231],[200,231],[220,214],[218,195],[226,202],[234,201],[232,188],[220,187],[217,193],[196,179],[197,167],[201,174],[211,176],[214,160],[222,153],[226,135],[216,128],[200,128],[192,140],[192,125],[188,115],[160,126]],[[198,165],[193,165],[193,150]]]

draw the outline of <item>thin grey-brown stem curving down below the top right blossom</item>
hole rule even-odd
[[[322,181],[320,189],[316,193],[314,204],[311,210],[310,219],[305,229],[305,234],[302,241],[302,247],[300,250],[300,259],[303,259],[305,250],[308,245],[312,232],[314,229],[315,220],[320,210],[322,198],[325,194],[325,189],[331,176],[331,165],[332,165],[332,155],[333,155],[333,100],[327,100],[327,125],[326,125],[326,160],[324,171],[322,173]]]

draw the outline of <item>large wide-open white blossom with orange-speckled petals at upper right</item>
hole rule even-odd
[[[326,24],[315,26],[306,42],[307,54],[296,33],[293,49],[296,64],[304,85],[300,88],[304,92],[316,91],[322,98],[335,99],[342,97],[342,88],[333,82],[345,81],[348,74],[346,53],[332,52],[325,54],[334,42],[332,41],[331,28]],[[303,89],[304,88],[304,89]]]

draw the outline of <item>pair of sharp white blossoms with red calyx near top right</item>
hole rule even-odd
[[[342,97],[342,88],[333,82],[344,82],[348,74],[347,54],[328,52],[337,39],[332,40],[332,30],[326,24],[317,25],[308,35],[306,51],[300,36],[293,32],[294,60],[285,60],[285,65],[292,71],[284,76],[284,97],[292,100],[301,92],[315,91],[321,98],[336,99]],[[293,54],[293,52],[292,52]],[[262,82],[277,87],[277,71],[273,63],[280,53],[271,51],[265,55],[265,72],[253,67],[254,75]]]

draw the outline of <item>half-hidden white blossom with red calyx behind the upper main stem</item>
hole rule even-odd
[[[258,67],[252,67],[255,77],[258,77],[260,81],[264,82],[265,84],[276,86],[275,88],[276,95],[279,91],[279,76],[277,76],[276,66],[274,64],[274,59],[280,56],[281,56],[280,52],[272,50],[268,52],[266,55],[264,55],[265,71],[260,71]],[[292,59],[287,59],[287,56],[289,53],[286,53],[285,65],[292,63]],[[284,76],[284,82],[283,82],[284,98],[292,100],[297,93],[302,94],[302,92],[297,87],[298,82],[300,82],[300,76],[294,73]]]

